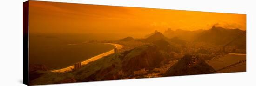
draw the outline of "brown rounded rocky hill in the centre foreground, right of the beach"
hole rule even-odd
[[[155,45],[144,45],[131,50],[122,60],[122,69],[130,74],[143,68],[159,67],[166,60]]]

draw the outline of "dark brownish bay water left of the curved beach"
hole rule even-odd
[[[110,44],[84,43],[84,37],[38,36],[29,38],[29,63],[60,69],[115,48]]]

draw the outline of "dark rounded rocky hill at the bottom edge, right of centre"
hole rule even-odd
[[[169,68],[164,76],[209,74],[214,71],[213,67],[206,64],[201,58],[185,55],[174,66]]]

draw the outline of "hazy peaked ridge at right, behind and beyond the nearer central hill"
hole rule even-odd
[[[209,30],[196,30],[196,31],[186,31],[186,30],[176,30],[173,31],[168,29],[165,31],[164,35],[168,38],[179,38],[181,40],[186,40],[190,42],[206,42],[216,45],[224,45],[229,43],[229,41],[234,40],[237,36],[245,31],[240,29],[226,29],[223,27],[212,26]],[[246,42],[245,35],[237,38],[232,44],[242,45]]]

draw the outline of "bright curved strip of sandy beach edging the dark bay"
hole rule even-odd
[[[114,43],[101,43],[101,44],[110,44],[110,45],[113,45],[115,46],[116,49],[121,49],[123,48],[122,45],[119,45],[119,44],[114,44]],[[92,62],[92,61],[95,61],[95,60],[98,60],[98,59],[101,59],[102,57],[105,57],[105,56],[108,56],[112,53],[115,53],[115,48],[108,51],[108,52],[105,52],[105,53],[101,53],[99,55],[96,55],[94,57],[91,57],[90,59],[87,59],[87,60],[84,60],[81,62],[81,65],[86,65],[88,64],[89,62]],[[74,65],[73,66],[68,66],[66,68],[61,68],[61,69],[57,69],[57,70],[52,70],[52,72],[66,72],[66,71],[70,71],[74,69]]]

